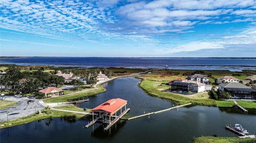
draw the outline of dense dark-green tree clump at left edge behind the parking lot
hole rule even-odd
[[[43,72],[41,70],[34,72],[21,72],[17,66],[10,66],[6,74],[0,77],[1,90],[5,87],[11,95],[21,91],[24,94],[37,91],[39,87],[44,86],[62,86],[65,78],[58,75]]]

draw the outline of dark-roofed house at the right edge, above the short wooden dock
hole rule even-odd
[[[230,92],[231,96],[235,96],[235,97],[256,98],[255,89],[247,87],[239,82],[221,83],[219,85],[218,90]]]

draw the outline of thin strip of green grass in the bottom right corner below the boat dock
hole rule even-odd
[[[252,141],[253,139],[236,138],[236,137],[199,137],[192,143],[238,143],[239,141]],[[255,139],[254,139],[255,140]]]

